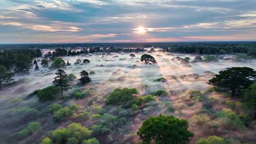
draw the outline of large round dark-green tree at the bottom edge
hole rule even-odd
[[[149,144],[187,144],[193,134],[187,130],[188,121],[173,116],[148,117],[139,128],[137,135]]]

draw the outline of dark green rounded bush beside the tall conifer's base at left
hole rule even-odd
[[[56,99],[60,94],[60,88],[56,86],[49,86],[39,90],[37,98],[40,102]]]

